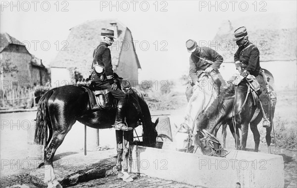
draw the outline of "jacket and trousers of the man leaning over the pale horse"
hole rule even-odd
[[[214,62],[213,64],[209,64],[206,61],[200,59],[199,57],[210,60]],[[190,56],[190,77],[193,81],[193,84],[195,84],[196,81],[198,81],[197,71],[202,70],[204,71],[208,67],[212,67],[213,70],[217,73],[217,76],[219,78],[219,81],[221,82],[222,86],[225,86],[226,83],[219,72],[220,65],[223,62],[223,57],[216,52],[215,50],[209,48],[209,47],[201,47],[201,50],[199,53],[194,54],[191,53]],[[191,84],[188,84],[187,90],[186,90],[186,96],[187,100],[189,101],[191,96],[193,94],[193,86]]]

